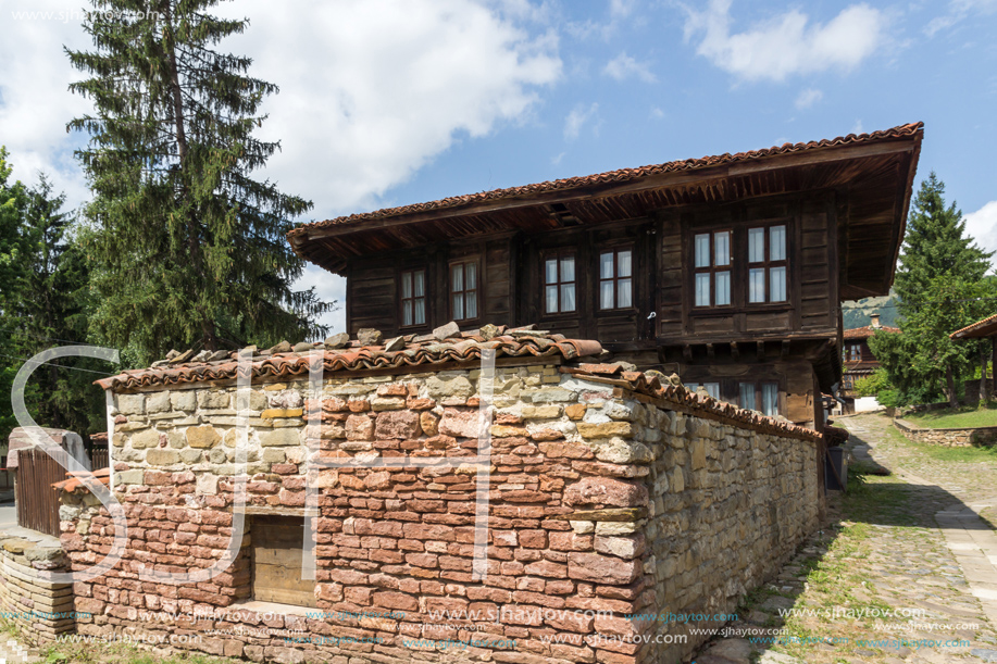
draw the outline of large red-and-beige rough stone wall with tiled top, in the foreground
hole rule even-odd
[[[114,393],[113,492],[128,549],[111,573],[75,585],[76,610],[91,616],[79,631],[179,635],[175,647],[256,662],[672,662],[706,640],[691,628],[721,625],[636,614],[732,613],[818,525],[814,431],[619,364],[584,364],[598,344],[559,335],[390,342],[324,350],[319,400],[307,352],[254,356],[245,469],[235,355],[102,381]],[[482,478],[460,460],[477,453],[483,348],[498,360],[488,566],[475,580]],[[307,477],[309,409],[321,409],[322,458],[451,463]],[[242,475],[248,525],[226,573],[142,580],[142,567],[219,559]],[[300,515],[307,483],[320,492],[315,607],[261,604],[254,515]],[[110,550],[113,525],[80,492],[63,500],[63,546],[83,569]]]

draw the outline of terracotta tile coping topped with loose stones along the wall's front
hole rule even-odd
[[[476,362],[482,350],[495,349],[496,358],[553,358],[577,360],[599,355],[602,347],[598,341],[568,339],[563,335],[533,329],[534,326],[507,329],[493,327],[496,336],[485,338],[482,331],[457,333],[450,338],[438,339],[433,335],[416,337],[410,335],[379,344],[362,346],[350,341],[346,347],[324,351],[323,365],[329,372],[356,372],[398,367],[432,369],[435,365],[450,362]],[[483,328],[484,329],[484,328]],[[313,348],[323,348],[322,343]],[[392,350],[386,350],[391,348]],[[254,378],[291,378],[308,376],[311,349],[299,352],[256,354],[252,359]],[[160,363],[157,363],[160,364]],[[103,389],[123,390],[158,385],[170,386],[211,380],[233,380],[238,368],[238,352],[213,362],[185,362],[150,368],[123,372],[110,378],[97,380]]]

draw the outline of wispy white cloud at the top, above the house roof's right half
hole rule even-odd
[[[710,0],[706,10],[685,8],[686,40],[699,39],[697,52],[745,80],[784,80],[830,68],[850,70],[884,40],[885,15],[868,4],[852,4],[824,24],[810,24],[789,10],[749,29],[732,34],[732,0]]]

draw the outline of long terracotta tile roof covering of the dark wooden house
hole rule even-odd
[[[751,150],[748,152],[738,152],[736,154],[724,153],[713,156],[702,156],[700,159],[686,159],[665,162],[663,164],[655,164],[648,166],[639,166],[636,168],[620,168],[619,171],[609,171],[606,173],[597,173],[595,175],[585,175],[578,177],[568,177],[563,179],[549,180],[544,183],[538,183],[535,185],[525,185],[521,187],[509,187],[506,189],[494,189],[491,191],[482,191],[478,193],[469,193],[464,196],[452,196],[449,198],[429,201],[425,203],[415,203],[411,205],[402,205],[399,208],[386,208],[384,210],[376,210],[374,212],[363,212],[359,214],[350,214],[348,216],[340,216],[333,220],[326,220],[323,222],[313,222],[311,224],[304,224],[297,228],[290,230],[287,234],[288,238],[306,235],[309,230],[316,228],[323,228],[327,226],[335,226],[338,224],[348,224],[351,222],[360,222],[366,220],[381,220],[392,216],[402,216],[406,214],[414,214],[420,212],[431,212],[436,210],[445,210],[448,208],[459,208],[461,205],[468,205],[473,203],[481,203],[484,201],[497,201],[501,199],[513,199],[516,197],[526,197],[535,196],[538,193],[546,193],[551,191],[566,191],[571,189],[581,189],[584,187],[591,187],[596,185],[610,185],[610,184],[622,184],[631,180],[641,179],[649,176],[662,175],[665,173],[683,172],[683,171],[694,171],[696,168],[706,168],[711,166],[720,166],[725,164],[733,164],[738,162],[746,162],[752,160],[764,159],[769,156],[776,156],[781,154],[789,154],[794,152],[803,152],[809,150],[820,150],[824,148],[834,148],[838,146],[849,146],[858,145],[864,142],[871,142],[882,139],[890,138],[905,138],[914,136],[924,127],[924,123],[910,123],[906,125],[900,125],[893,127],[892,129],[883,129],[880,131],[872,131],[869,134],[849,134],[847,136],[839,136],[832,139],[815,140],[809,142],[799,142],[799,143],[785,143],[783,146],[774,146],[772,148],[765,148],[762,150]]]

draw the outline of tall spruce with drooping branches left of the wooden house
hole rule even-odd
[[[279,149],[252,136],[277,88],[212,50],[248,25],[209,15],[216,4],[94,0],[96,50],[67,50],[91,76],[71,89],[96,108],[68,125],[90,135],[77,156],[95,197],[95,329],[142,363],[316,336],[332,308],[291,287],[303,262],[285,235],[311,203],[251,177]]]

